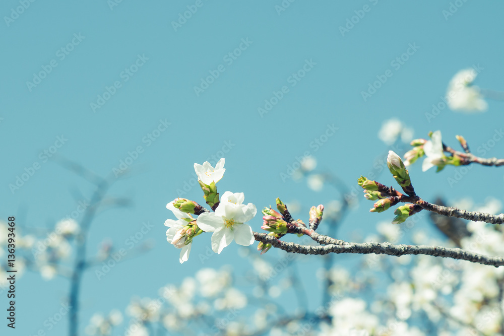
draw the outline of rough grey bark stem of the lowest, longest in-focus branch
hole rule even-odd
[[[253,232],[255,240],[263,244],[271,244],[271,246],[280,248],[286,252],[299,254],[316,254],[324,255],[328,253],[355,253],[355,254],[387,254],[401,256],[407,254],[425,254],[444,258],[467,260],[483,265],[492,265],[495,267],[504,265],[504,257],[488,256],[484,254],[474,253],[462,250],[460,248],[445,248],[442,246],[428,245],[394,245],[388,242],[377,243],[350,243],[345,242],[341,245],[329,244],[325,246],[300,245],[292,242],[281,241],[275,237],[265,233]],[[327,237],[329,239],[334,239]]]

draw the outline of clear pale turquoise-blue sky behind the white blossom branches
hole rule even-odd
[[[155,296],[159,287],[177,284],[203,266],[197,256],[210,236],[180,265],[163,226],[171,216],[165,205],[190,183],[195,162],[228,151],[221,193],[244,192],[258,209],[276,197],[296,199],[305,210],[297,217],[306,219],[309,206],[338,195],[330,187],[314,192],[306,183],[282,180],[281,173],[305,151],[317,158],[318,169],[354,186],[389,150],[376,136],[383,120],[399,118],[415,137],[440,129],[453,147],[460,134],[474,150],[504,126],[499,101],[489,101],[481,114],[447,107],[435,118],[426,115],[442,101],[452,76],[473,65],[481,68],[477,85],[504,90],[501,2],[299,0],[284,11],[277,7],[281,1],[111,3],[0,5],[6,51],[0,70],[1,218],[15,215],[20,226],[50,228],[76,210],[78,200],[89,199],[93,186],[48,160],[44,150],[53,150],[102,176],[113,174],[121,160],[131,162],[131,174],[118,179],[110,195],[129,197],[134,205],[95,219],[90,252],[105,238],[127,246],[143,222],[154,224],[143,238],[154,242],[150,252],[118,264],[100,281],[93,272],[85,276],[81,326],[93,312],[123,310],[131,296]],[[185,14],[185,22],[172,23],[191,9],[195,13]],[[384,83],[364,100],[362,92],[380,78]],[[276,103],[261,113],[265,100]],[[334,135],[310,147],[328,125],[338,127]],[[403,145],[403,153],[407,149]],[[502,143],[487,152],[486,157],[503,157]],[[39,168],[33,176],[12,190],[9,185],[34,164]],[[425,199],[502,199],[504,180],[497,169],[472,167],[450,185],[456,171],[422,173],[417,164],[410,175]],[[381,180],[393,182],[388,174]],[[204,203],[198,187],[189,189],[185,197]],[[340,238],[350,239],[355,230],[374,232],[377,221],[392,219],[392,213],[368,213],[370,205],[360,202]],[[258,215],[250,224],[260,231],[261,222]],[[204,266],[231,264],[238,272],[243,266],[235,252],[231,246]],[[17,286],[16,334],[30,335],[45,328],[47,311],[59,309],[69,288],[63,279],[45,282],[30,273]],[[66,334],[66,321],[51,332]]]

